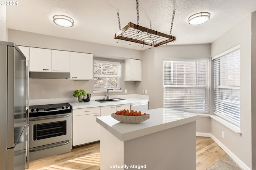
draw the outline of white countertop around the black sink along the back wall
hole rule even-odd
[[[100,106],[111,106],[111,105],[119,105],[119,104],[131,104],[131,103],[138,103],[138,102],[148,102],[148,99],[142,98],[123,98],[126,99],[125,101],[118,101],[118,102],[97,102],[95,100],[90,100],[89,102],[68,102],[73,109],[80,109],[86,107],[100,107]]]

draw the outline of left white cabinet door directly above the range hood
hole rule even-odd
[[[29,71],[51,71],[51,50],[30,47]]]

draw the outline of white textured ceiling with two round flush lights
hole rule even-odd
[[[168,45],[212,43],[251,12],[256,0],[139,0],[139,22],[143,27],[170,34],[176,41]],[[136,0],[20,0],[17,6],[6,6],[6,27],[33,33],[77,39],[93,43],[144,50],[138,44],[113,38],[129,22],[137,24]],[[201,25],[189,25],[188,18],[198,12],[209,12],[210,20]],[[70,28],[53,23],[54,15],[66,15],[74,20]],[[241,32],[242,33],[242,32]],[[156,47],[157,48],[157,47]]]

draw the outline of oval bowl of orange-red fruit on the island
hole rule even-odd
[[[111,117],[122,122],[122,123],[140,123],[146,121],[150,118],[149,114],[142,114],[141,111],[133,111],[129,112],[129,110],[120,110],[116,111],[116,113],[112,113]]]

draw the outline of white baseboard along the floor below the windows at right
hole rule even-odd
[[[232,153],[225,145],[223,145],[216,137],[210,133],[196,133],[196,136],[200,137],[210,137],[214,142],[216,142],[221,149],[223,149],[243,170],[251,170],[244,162],[242,162],[234,153]]]

